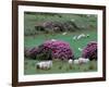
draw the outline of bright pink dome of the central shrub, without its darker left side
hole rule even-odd
[[[70,45],[64,41],[48,40],[48,41],[44,42],[44,49],[41,52],[48,51],[49,49],[51,50],[51,58],[55,58],[55,59],[68,60],[70,58],[74,57],[73,52],[70,48]]]

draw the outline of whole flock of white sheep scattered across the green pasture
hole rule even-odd
[[[62,35],[66,35],[68,33],[63,33]],[[73,37],[73,40],[76,40],[76,39],[82,39],[82,38],[87,38],[89,37],[89,35],[85,35],[85,34],[80,34],[78,36],[74,36]],[[56,41],[56,39],[51,39],[51,41]],[[80,51],[82,51],[83,49],[78,48]],[[70,66],[72,66],[72,64],[84,64],[84,63],[88,63],[89,62],[89,59],[85,59],[85,58],[78,58],[78,59],[75,59],[75,60],[68,60],[68,63]],[[52,61],[43,61],[43,62],[38,62],[36,63],[36,67],[37,69],[40,69],[40,70],[49,70],[52,67]]]

